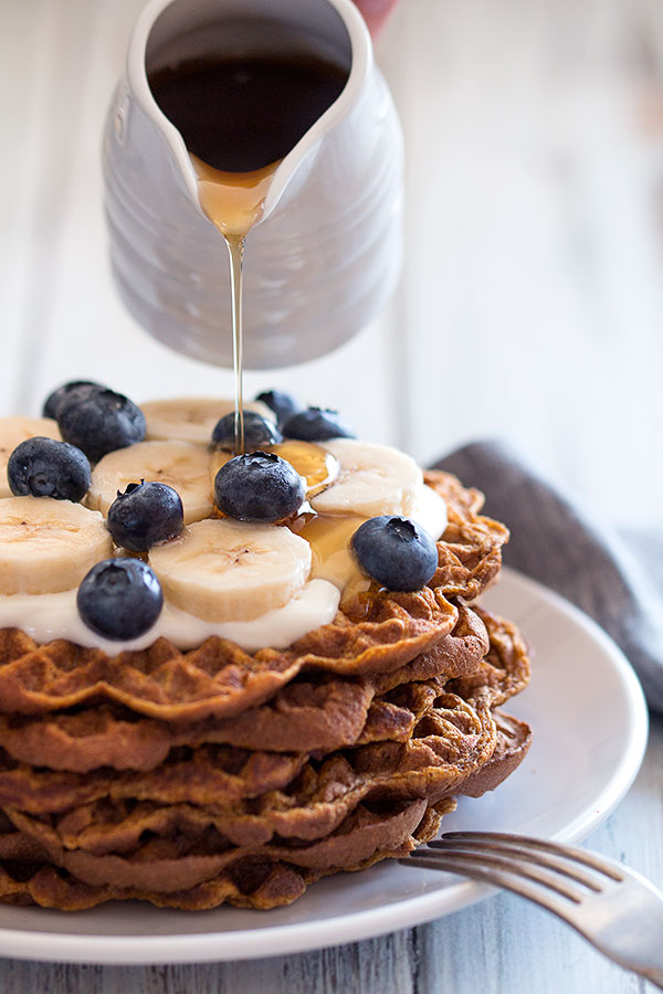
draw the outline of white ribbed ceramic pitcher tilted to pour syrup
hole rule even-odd
[[[230,276],[179,131],[147,73],[180,60],[305,51],[349,71],[278,166],[249,233],[244,364],[325,355],[365,327],[400,269],[402,141],[350,0],[152,0],[131,35],[104,140],[110,260],[131,314],[167,346],[232,366]]]

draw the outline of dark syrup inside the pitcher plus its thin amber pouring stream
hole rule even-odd
[[[235,453],[244,452],[244,239],[264,210],[281,160],[340,95],[347,70],[311,54],[185,61],[149,76],[185,140],[200,205],[228,246],[232,282]]]

